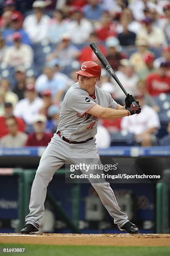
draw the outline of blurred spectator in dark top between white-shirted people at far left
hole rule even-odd
[[[23,66],[15,67],[15,84],[13,92],[18,95],[19,100],[24,98],[25,92],[25,68]]]

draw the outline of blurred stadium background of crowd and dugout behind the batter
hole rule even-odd
[[[159,184],[112,188],[142,232],[170,232],[168,0],[0,0],[0,232],[24,225],[33,177],[63,97],[77,82],[74,72],[84,61],[100,64],[92,41],[142,106],[140,115],[100,121],[101,158],[148,159],[142,172],[162,174]],[[122,90],[101,68],[97,86],[124,105]],[[65,184],[63,167],[48,190],[43,232],[119,232],[90,184]]]

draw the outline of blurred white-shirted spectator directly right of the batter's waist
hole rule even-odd
[[[111,136],[107,128],[99,124],[97,126],[97,134],[95,137],[96,137],[97,148],[109,148],[111,143]]]

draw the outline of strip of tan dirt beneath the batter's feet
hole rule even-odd
[[[38,234],[1,233],[0,243],[95,246],[170,246],[170,234]]]

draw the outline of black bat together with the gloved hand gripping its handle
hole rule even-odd
[[[112,67],[109,64],[109,61],[106,59],[106,57],[104,56],[104,54],[101,52],[101,50],[99,49],[99,46],[96,44],[96,42],[92,42],[90,44],[91,49],[94,51],[94,53],[96,54],[97,58],[100,60],[100,62],[103,64],[103,66],[105,67],[105,69],[109,72],[109,74],[111,74],[111,76],[113,77],[113,79],[117,82],[117,84],[119,85],[119,87],[122,89],[122,91],[124,92],[124,94],[127,96],[128,93],[127,91],[124,89],[123,85],[121,84],[121,82],[119,81],[119,78],[117,77],[117,75],[114,73],[114,70],[112,69]],[[129,95],[128,95],[129,96]],[[127,96],[127,97],[128,97]],[[134,97],[133,97],[134,98]],[[127,99],[127,98],[126,98]],[[134,111],[137,110],[137,114],[140,113],[140,105],[139,102],[137,102],[135,99],[133,102],[130,102],[130,108],[132,108]]]

